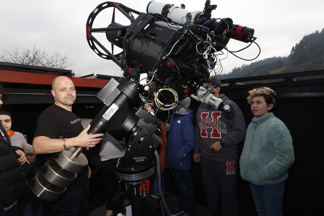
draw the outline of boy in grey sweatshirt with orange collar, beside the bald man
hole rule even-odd
[[[25,154],[33,154],[33,146],[28,144],[25,140],[24,135],[22,135],[19,132],[11,131],[11,115],[9,112],[5,110],[0,110],[0,123],[2,124],[2,127],[7,131],[10,142],[12,146],[18,146],[22,149],[24,149]]]

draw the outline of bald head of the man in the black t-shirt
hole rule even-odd
[[[52,95],[58,103],[71,106],[76,99],[73,82],[67,77],[60,77],[53,86]]]

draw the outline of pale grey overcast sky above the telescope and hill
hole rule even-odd
[[[104,1],[99,0],[3,0],[0,4],[2,32],[0,34],[0,52],[17,48],[33,48],[34,44],[49,53],[59,51],[75,63],[76,74],[118,75],[120,68],[110,60],[100,58],[92,51],[86,40],[86,22],[89,14]],[[146,12],[150,0],[119,0],[125,6],[140,12]],[[205,1],[161,0],[160,2],[180,6],[186,10],[200,10]],[[272,56],[288,56],[291,48],[306,34],[324,28],[324,1],[319,0],[261,0],[242,1],[211,0],[217,5],[212,12],[213,18],[232,18],[235,24],[254,28],[256,42],[261,47],[260,60]],[[111,23],[110,8],[101,12],[95,19],[93,28],[104,28]],[[136,14],[134,14],[135,16]],[[137,15],[136,15],[137,16]],[[136,18],[135,16],[135,18]],[[116,14],[116,22],[129,25],[122,15]],[[100,34],[100,35],[98,35]],[[107,48],[110,47],[104,33],[93,34]],[[98,36],[97,36],[98,35]],[[231,39],[227,47],[231,51],[239,50],[247,44]],[[248,50],[237,53],[242,58],[253,59],[258,48],[252,44]],[[223,73],[234,67],[250,64],[228,53],[222,60]]]

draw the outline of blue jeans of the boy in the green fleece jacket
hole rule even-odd
[[[250,188],[259,216],[283,215],[284,182],[274,185],[255,186]]]

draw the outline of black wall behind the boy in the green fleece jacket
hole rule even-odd
[[[262,85],[257,84],[254,86]],[[295,152],[295,163],[288,170],[289,177],[285,182],[284,214],[311,215],[310,212],[319,210],[319,206],[324,201],[324,163],[322,159],[324,147],[321,138],[324,128],[322,123],[324,121],[324,112],[321,111],[324,106],[324,97],[318,96],[318,94],[309,94],[303,97],[301,94],[298,96],[298,93],[294,97],[292,95],[287,96],[287,93],[290,90],[294,91],[294,88],[296,88],[296,92],[301,91],[302,89],[298,89],[298,86],[279,85],[269,87],[277,91],[278,101],[274,114],[289,129],[293,138]],[[246,97],[248,97],[247,92],[252,88],[253,86],[249,88],[240,87],[233,90],[225,87],[221,90],[221,93],[231,99],[233,98],[237,103],[242,110],[247,126],[254,117],[246,100]],[[191,108],[196,111],[199,104],[193,102],[192,105]],[[243,146],[244,141],[238,145],[238,158],[242,153]],[[207,200],[202,185],[200,165],[193,160],[191,160],[191,165],[195,202],[206,206]],[[239,215],[257,215],[249,183],[240,177],[239,166],[237,171],[237,196]]]

